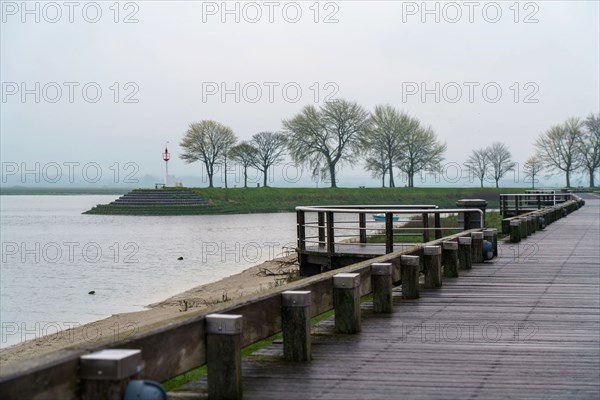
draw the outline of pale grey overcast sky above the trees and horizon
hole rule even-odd
[[[1,5],[3,172],[161,176],[169,141],[170,172],[194,175],[178,157],[191,122],[246,140],[328,98],[418,117],[448,163],[502,141],[522,164],[540,133],[600,109],[598,1]],[[355,165],[339,185],[357,175],[377,184]]]

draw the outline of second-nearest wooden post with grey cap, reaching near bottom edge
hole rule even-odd
[[[206,322],[208,397],[242,398],[242,316],[209,314]]]

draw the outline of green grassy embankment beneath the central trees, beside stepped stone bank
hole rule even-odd
[[[89,214],[210,215],[292,212],[301,205],[435,204],[456,207],[456,200],[481,198],[498,208],[498,194],[522,188],[190,188],[208,204],[196,206],[99,205]]]

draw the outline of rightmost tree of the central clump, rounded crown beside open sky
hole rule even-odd
[[[446,144],[438,142],[433,129],[422,127],[416,118],[401,114],[399,122],[401,142],[396,165],[407,175],[408,187],[414,187],[416,173],[439,169]]]

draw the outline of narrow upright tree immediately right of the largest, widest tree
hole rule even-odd
[[[361,146],[368,154],[365,168],[373,173],[373,177],[383,176],[385,179],[387,172],[391,188],[396,186],[394,166],[402,141],[400,121],[400,113],[392,106],[376,106],[371,114],[370,129],[361,137]]]

